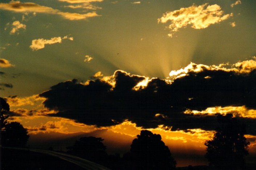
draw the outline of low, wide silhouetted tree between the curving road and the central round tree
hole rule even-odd
[[[100,162],[107,157],[106,146],[102,143],[104,139],[95,137],[83,137],[75,142],[72,147],[67,147],[67,153],[75,156]]]

